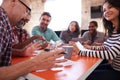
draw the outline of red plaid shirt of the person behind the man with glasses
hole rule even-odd
[[[12,36],[12,46],[14,46],[17,43],[24,42],[29,38],[29,34],[25,29],[17,29],[16,27],[12,27],[13,29],[13,36]]]

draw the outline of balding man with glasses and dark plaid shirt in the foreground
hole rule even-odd
[[[11,65],[12,36],[11,26],[15,26],[31,10],[30,0],[3,0],[0,7],[0,80],[15,80],[31,71],[61,67],[56,65],[65,60],[56,60],[62,50],[42,52],[32,59]],[[55,54],[56,53],[56,54]]]

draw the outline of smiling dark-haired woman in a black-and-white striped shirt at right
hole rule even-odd
[[[103,25],[108,39],[102,46],[87,46],[91,51],[80,51],[80,56],[111,60],[95,69],[86,80],[120,80],[120,0],[105,0]]]

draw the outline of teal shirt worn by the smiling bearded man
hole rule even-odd
[[[33,29],[32,29],[32,36],[34,36],[34,35],[44,36],[44,38],[45,38],[47,41],[50,41],[50,40],[58,41],[58,40],[60,40],[60,38],[57,36],[57,34],[56,34],[53,30],[47,28],[47,30],[46,30],[45,32],[43,32],[43,31],[40,29],[39,26],[33,27]]]

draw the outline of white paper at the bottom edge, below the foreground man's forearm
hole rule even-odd
[[[27,75],[21,76],[16,80],[45,80],[45,79],[43,79],[41,77],[38,77],[38,76],[36,76],[36,75],[34,75],[32,73],[28,73]]]

